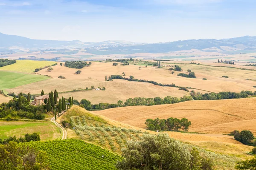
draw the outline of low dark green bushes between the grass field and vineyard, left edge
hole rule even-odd
[[[30,141],[40,141],[40,135],[38,133],[32,133],[32,134],[28,134],[26,133],[24,138],[20,136],[20,138],[17,138],[16,136],[10,136],[7,139],[0,139],[0,144],[8,144],[9,142],[13,141],[13,142],[30,142]]]

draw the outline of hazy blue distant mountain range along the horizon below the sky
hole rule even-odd
[[[230,39],[200,39],[184,40],[165,43],[135,43],[129,41],[81,42],[58,40],[33,40],[16,35],[0,33],[0,52],[46,49],[84,48],[88,53],[97,55],[108,54],[134,54],[134,53],[167,53],[170,51],[183,51],[198,49],[221,53],[256,51],[256,36],[244,36]]]

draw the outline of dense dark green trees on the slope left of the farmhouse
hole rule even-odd
[[[30,105],[30,95],[27,96],[26,98],[20,93],[18,98],[14,96],[8,103],[2,103],[0,105],[0,118],[20,116],[29,119],[44,119],[44,106]]]

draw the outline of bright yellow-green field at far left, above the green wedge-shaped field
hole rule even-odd
[[[15,64],[6,65],[0,67],[0,70],[6,71],[17,71],[22,73],[33,73],[36,68],[45,67],[48,65],[53,65],[54,61],[32,61],[32,60],[16,60]]]

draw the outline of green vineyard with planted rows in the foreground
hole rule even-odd
[[[23,144],[45,151],[51,170],[115,170],[120,159],[108,150],[76,139]]]

